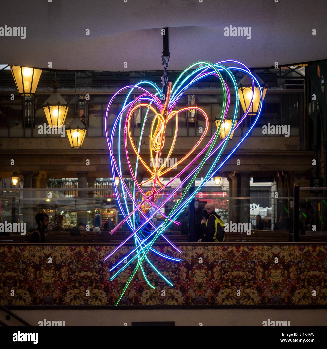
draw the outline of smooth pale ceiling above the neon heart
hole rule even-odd
[[[3,0],[0,27],[26,27],[26,39],[0,37],[0,63],[159,70],[169,27],[169,69],[225,59],[286,65],[327,58],[326,18],[326,0]],[[224,36],[230,25],[251,27],[251,39]]]

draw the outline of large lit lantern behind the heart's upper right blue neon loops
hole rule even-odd
[[[266,95],[267,86],[260,79],[260,77],[258,77],[257,75],[255,75],[255,77],[260,83],[260,88],[262,90],[262,97],[264,98]],[[246,111],[248,110],[248,107],[251,103],[251,99],[253,96],[253,103],[250,107],[248,115],[256,115],[258,113],[261,96],[260,96],[259,87],[255,87],[254,93],[253,93],[251,78],[250,78],[250,75],[248,74],[246,74],[246,76],[244,76],[243,79],[239,82],[239,95],[240,95],[240,102],[241,102],[244,113],[246,113]]]

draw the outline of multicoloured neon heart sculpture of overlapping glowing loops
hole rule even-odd
[[[232,66],[227,67],[226,64],[232,65]],[[237,66],[233,66],[233,65],[237,65]],[[199,66],[199,67],[195,68],[196,66]],[[194,69],[194,70],[191,70],[191,69]],[[254,91],[255,85],[258,86],[258,90],[260,91],[260,95],[261,95],[260,106],[258,108],[258,113],[256,115],[256,118],[253,124],[249,127],[246,134],[236,144],[233,150],[230,151],[230,153],[226,156],[226,158],[223,159],[223,161],[221,161],[218,164],[218,161],[222,155],[222,152],[225,149],[228,140],[230,139],[230,135],[242,124],[243,120],[248,115],[248,112],[253,103],[253,95],[252,95],[248,110],[246,111],[246,113],[244,113],[242,118],[237,121],[236,119],[237,119],[237,112],[239,108],[239,93],[237,89],[236,79],[232,71],[236,71],[236,72],[239,71],[239,72],[248,74],[250,76],[252,81],[252,91]],[[227,85],[228,80],[226,82],[223,79],[221,72],[226,73],[227,79],[233,85],[233,89],[235,90],[236,103],[234,108],[232,127],[230,128],[230,131],[227,137],[219,142],[220,128],[222,126],[222,122],[225,120],[225,117],[227,115],[227,112],[230,106],[230,91]],[[189,88],[193,83],[209,75],[215,75],[220,80],[222,90],[223,90],[223,105],[222,105],[221,116],[219,119],[220,122],[219,122],[218,129],[215,131],[215,133],[213,134],[209,142],[205,144],[202,147],[202,149],[200,149],[199,146],[204,140],[204,137],[209,127],[209,119],[206,113],[202,109],[196,106],[185,107],[181,110],[175,110],[175,111],[174,111],[174,108],[177,102],[179,101],[180,97],[183,95],[183,93],[187,88]],[[151,88],[155,89],[156,91],[155,94],[152,94],[151,92],[146,90],[144,87],[141,87],[141,85],[150,85]],[[129,91],[127,93],[123,106],[115,119],[115,122],[112,127],[112,131],[111,131],[111,135],[109,137],[108,128],[107,128],[109,108],[111,107],[116,96],[119,95],[124,90],[129,90]],[[131,96],[131,93],[135,90],[138,93],[141,92],[141,94],[137,98],[131,101],[128,101]],[[182,259],[170,257],[168,255],[165,255],[157,251],[154,247],[152,247],[152,245],[160,236],[162,236],[166,240],[166,242],[170,244],[172,248],[175,248],[175,250],[177,250],[179,253],[182,252],[164,235],[164,232],[170,227],[170,225],[180,224],[179,222],[176,221],[178,216],[189,205],[190,201],[200,191],[204,183],[208,179],[213,177],[214,174],[221,169],[223,164],[225,164],[225,162],[229,159],[229,157],[234,153],[234,151],[240,146],[243,140],[251,132],[251,129],[254,127],[255,123],[257,122],[260,116],[261,109],[262,109],[262,101],[263,101],[262,89],[256,77],[253,74],[251,74],[247,66],[245,66],[241,62],[234,61],[234,60],[221,61],[216,64],[211,64],[205,61],[194,63],[191,66],[189,66],[187,69],[185,69],[182,74],[180,74],[180,76],[178,77],[178,79],[176,80],[173,86],[171,86],[171,83],[168,84],[168,90],[165,96],[166,98],[164,103],[162,103],[162,100],[161,100],[163,98],[162,95],[163,95],[162,91],[157,87],[155,83],[151,81],[141,81],[136,85],[126,86],[120,89],[119,91],[117,91],[115,95],[111,98],[106,111],[105,131],[106,131],[106,138],[107,138],[107,143],[109,147],[112,177],[120,178],[122,198],[120,198],[118,186],[116,185],[115,181],[114,181],[114,189],[115,189],[118,205],[120,207],[120,210],[123,216],[125,217],[111,231],[111,234],[114,233],[117,229],[119,229],[122,226],[122,224],[125,222],[128,224],[129,228],[131,229],[131,234],[119,246],[114,248],[114,250],[111,253],[109,253],[104,260],[106,261],[109,257],[111,257],[129,239],[134,238],[134,243],[135,243],[135,248],[133,248],[127,255],[125,255],[124,258],[122,258],[118,263],[116,263],[110,269],[110,271],[112,271],[118,266],[120,266],[124,261],[126,261],[125,265],[121,267],[118,270],[118,272],[116,272],[110,278],[110,280],[113,280],[115,277],[117,277],[124,269],[126,269],[137,258],[135,269],[133,273],[130,275],[129,280],[127,281],[125,287],[123,288],[123,291],[119,299],[115,303],[115,305],[118,305],[129,283],[131,282],[131,280],[133,279],[133,277],[135,276],[139,268],[142,271],[142,275],[144,277],[145,282],[147,282],[150,288],[152,289],[155,288],[147,279],[147,276],[145,275],[145,271],[143,268],[143,260],[145,260],[151,266],[151,268],[153,268],[165,282],[173,286],[173,284],[168,279],[166,279],[166,277],[161,272],[159,272],[159,270],[151,263],[147,254],[149,251],[152,251],[158,254],[159,256],[161,256],[162,258],[166,258],[176,262],[182,261]],[[130,133],[130,120],[133,113],[139,108],[146,108],[147,111],[145,113],[144,121],[143,121],[141,132],[140,132],[138,149],[136,149]],[[185,166],[185,168],[182,169],[175,177],[171,178],[169,182],[164,185],[160,177],[168,173],[172,169],[172,166],[166,168],[166,163],[167,163],[167,159],[172,154],[176,137],[178,134],[178,114],[180,112],[183,112],[185,110],[190,110],[190,109],[192,110],[196,109],[203,114],[206,121],[205,130],[202,136],[200,137],[200,139],[198,140],[198,142],[196,143],[196,145],[192,147],[189,153],[187,153],[182,159],[180,159],[177,162],[177,164],[174,164],[174,167],[177,165],[181,165],[183,163],[185,164],[187,160],[187,165]],[[153,169],[150,169],[151,166],[149,167],[146,160],[144,160],[140,155],[142,136],[143,136],[145,124],[150,112],[154,114],[154,117],[151,123],[150,142],[149,142],[150,158],[154,159]],[[124,118],[124,115],[125,115],[125,122],[123,123],[122,120]],[[175,132],[173,136],[173,141],[168,151],[168,156],[165,158],[165,161],[161,164],[159,159],[161,159],[163,147],[165,144],[166,125],[168,122],[172,122],[171,120],[173,120],[174,118],[175,118]],[[114,155],[114,135],[116,133],[117,133],[117,139],[116,139],[117,156]],[[133,190],[130,190],[128,188],[127,184],[123,181],[123,178],[122,178],[122,175],[123,175],[122,164],[121,164],[121,138],[122,138],[121,134],[122,133],[123,133],[123,144],[124,144],[128,168],[130,171],[130,175],[134,180]],[[136,156],[134,170],[132,169],[132,166],[130,163],[128,143],[131,145],[131,148],[134,151],[134,154]],[[190,159],[190,156],[193,154],[194,150],[196,149],[199,150],[199,154],[195,156],[193,159]],[[153,157],[153,155],[155,156]],[[196,163],[197,161],[199,161],[199,164]],[[143,165],[145,170],[149,172],[149,175],[150,175],[149,176],[150,179],[147,181],[144,181],[143,183],[138,183],[137,181],[137,170],[138,170],[139,162]],[[191,195],[187,196],[187,194],[189,193],[190,186],[195,182],[195,179],[198,173],[200,172],[200,170],[202,169],[205,163],[210,164],[209,170],[207,171],[206,176],[203,178],[203,180],[201,180],[200,185],[195,188],[194,192]],[[194,165],[195,168],[191,170],[190,168],[192,165]],[[189,170],[189,173],[186,172],[187,170]],[[166,189],[172,181],[182,176],[185,172],[186,172],[185,179],[182,180],[181,183],[176,188],[169,189],[169,190]],[[147,183],[152,183],[152,190],[144,192],[142,189],[142,186],[144,187],[144,185]],[[171,209],[168,216],[164,215],[161,212],[161,208],[165,205],[165,203],[168,200],[171,200],[171,198],[174,197],[175,193],[182,186],[183,187],[186,186],[186,188],[183,190],[179,200],[175,203],[175,205]],[[136,188],[137,188],[137,191],[136,191]],[[131,200],[131,203],[132,203],[131,210],[128,207],[127,200],[126,200],[127,198]],[[161,222],[158,227],[152,221],[157,214],[160,214],[164,217],[164,221]]]

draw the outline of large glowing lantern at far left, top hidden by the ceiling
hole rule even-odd
[[[42,69],[10,65],[14,81],[21,96],[32,96],[35,94]]]

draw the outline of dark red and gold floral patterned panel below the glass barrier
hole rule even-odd
[[[326,305],[327,246],[166,245],[156,248],[183,262],[152,252],[154,265],[170,287],[145,265],[150,289],[140,273],[120,305]],[[109,281],[110,267],[128,253],[114,246],[0,246],[0,304],[114,305],[132,267]],[[135,266],[135,264],[134,264]],[[88,292],[89,291],[89,295]],[[163,292],[164,291],[164,292]]]

